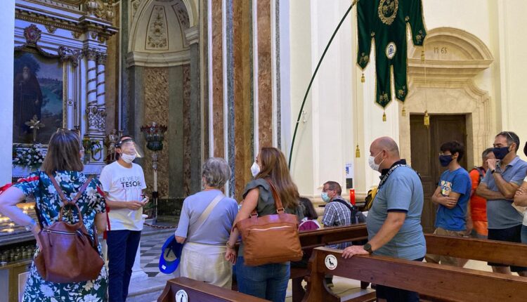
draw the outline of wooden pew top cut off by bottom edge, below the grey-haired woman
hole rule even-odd
[[[185,291],[187,295],[186,300],[176,301],[176,294],[178,291]],[[180,293],[182,294],[182,293]],[[183,294],[182,294],[183,295]],[[261,298],[249,296],[247,294],[239,293],[238,291],[231,291],[223,287],[216,287],[211,284],[199,282],[185,277],[178,277],[167,281],[164,291],[161,296],[157,298],[157,302],[180,302],[180,301],[243,301],[243,302],[263,302]]]

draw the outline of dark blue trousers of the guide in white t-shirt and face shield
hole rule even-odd
[[[108,301],[126,301],[140,240],[140,230],[108,231]]]

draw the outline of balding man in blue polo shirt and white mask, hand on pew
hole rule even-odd
[[[421,227],[423,186],[419,175],[399,156],[399,148],[388,137],[370,146],[370,167],[381,172],[381,182],[366,216],[368,242],[342,251],[344,258],[374,254],[422,261],[427,252]],[[387,301],[419,301],[415,291],[377,284],[377,298]]]

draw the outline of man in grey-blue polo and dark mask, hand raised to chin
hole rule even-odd
[[[527,162],[517,155],[520,139],[516,133],[503,131],[494,139],[496,159],[488,159],[488,171],[476,193],[487,199],[488,239],[521,242],[523,217],[512,207],[514,194],[527,174]],[[527,277],[527,268],[488,263],[494,272]]]

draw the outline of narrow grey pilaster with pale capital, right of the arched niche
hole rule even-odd
[[[202,164],[202,114],[200,103],[200,39],[199,27],[185,30],[185,38],[190,44],[190,194],[201,190]]]

